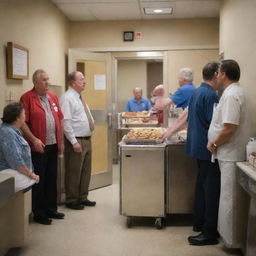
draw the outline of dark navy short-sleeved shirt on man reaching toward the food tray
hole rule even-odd
[[[211,160],[207,150],[208,129],[212,120],[213,106],[219,101],[214,89],[202,83],[192,94],[188,107],[187,154],[200,160]]]

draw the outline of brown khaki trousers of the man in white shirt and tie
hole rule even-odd
[[[87,199],[91,179],[91,139],[77,139],[82,152],[74,152],[71,143],[65,139],[65,190],[66,203]]]

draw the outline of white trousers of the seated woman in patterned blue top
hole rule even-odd
[[[15,192],[18,192],[35,184],[35,180],[32,180],[24,174],[13,169],[5,169],[0,171],[0,173],[6,173],[14,177]]]

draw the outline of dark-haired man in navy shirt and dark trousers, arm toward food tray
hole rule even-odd
[[[218,209],[220,196],[220,169],[218,161],[211,162],[207,150],[208,129],[212,120],[213,106],[218,102],[217,75],[219,63],[210,62],[203,68],[204,82],[192,94],[188,109],[185,109],[164,137],[169,137],[188,122],[187,154],[197,160],[198,175],[195,188],[193,230],[199,235],[189,236],[191,245],[217,244]],[[182,123],[183,122],[183,123]]]

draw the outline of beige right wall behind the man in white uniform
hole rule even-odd
[[[224,0],[220,11],[220,52],[241,68],[241,86],[251,102],[252,135],[256,135],[256,1]]]

